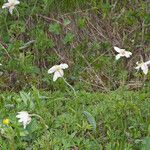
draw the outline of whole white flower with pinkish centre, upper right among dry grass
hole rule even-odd
[[[116,60],[118,60],[121,57],[129,58],[132,55],[131,52],[126,51],[125,49],[121,49],[121,48],[116,47],[116,46],[114,46],[114,50],[119,53],[116,55]]]

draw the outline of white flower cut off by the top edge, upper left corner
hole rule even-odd
[[[19,0],[8,0],[8,3],[3,4],[2,8],[8,8],[10,14],[12,14],[15,5],[20,4]]]

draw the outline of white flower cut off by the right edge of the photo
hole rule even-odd
[[[135,69],[139,70],[141,68],[145,75],[148,73],[148,65],[150,64],[150,60],[142,63],[136,62],[136,64],[137,67],[135,67]]]

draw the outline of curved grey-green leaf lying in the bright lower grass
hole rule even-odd
[[[87,111],[84,111],[83,114],[86,116],[88,122],[92,126],[93,130],[96,131],[96,121],[95,118]]]

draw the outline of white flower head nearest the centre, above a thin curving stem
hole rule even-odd
[[[66,68],[68,68],[67,64],[55,65],[48,70],[48,73],[49,74],[54,73],[53,81],[56,81],[59,77],[63,77],[64,75],[63,69]]]

